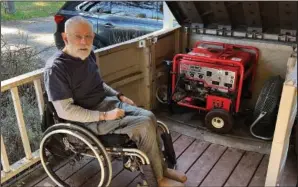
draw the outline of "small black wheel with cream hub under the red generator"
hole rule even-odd
[[[223,109],[213,109],[205,116],[205,125],[213,132],[225,134],[232,130],[234,120],[229,112]]]

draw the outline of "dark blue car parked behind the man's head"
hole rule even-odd
[[[93,47],[98,49],[162,29],[163,2],[68,1],[54,15],[58,49],[64,47],[61,33],[66,20],[77,15],[92,23]]]

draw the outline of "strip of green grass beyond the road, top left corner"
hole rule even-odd
[[[1,21],[51,16],[64,4],[63,1],[15,1],[16,12],[14,14],[6,14],[3,2],[1,3]]]

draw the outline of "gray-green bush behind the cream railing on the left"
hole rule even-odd
[[[41,68],[42,65],[39,65],[41,59],[39,59],[38,54],[36,49],[27,46],[26,36],[22,36],[20,44],[10,46],[1,35],[2,80]],[[41,138],[41,119],[33,83],[19,86],[18,90],[31,150],[35,151],[39,148]],[[1,93],[0,102],[2,106],[0,112],[1,133],[9,162],[12,164],[23,158],[25,154],[10,91]]]

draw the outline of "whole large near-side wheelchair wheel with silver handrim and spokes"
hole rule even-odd
[[[56,143],[54,148],[53,142]],[[57,170],[59,164],[70,164],[72,169],[74,163],[91,162],[94,158],[97,162],[92,163],[100,170],[98,186],[108,186],[111,182],[111,161],[105,148],[94,135],[82,127],[56,124],[48,128],[40,143],[40,158],[44,170],[58,186],[74,186],[74,182],[76,183],[76,179],[65,180],[66,176]]]

